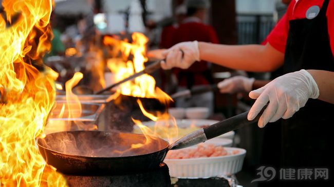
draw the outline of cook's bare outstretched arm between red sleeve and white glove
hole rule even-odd
[[[284,59],[284,54],[269,44],[230,46],[200,42],[198,47],[202,60],[252,72],[273,71],[283,64]]]

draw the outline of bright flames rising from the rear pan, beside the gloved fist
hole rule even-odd
[[[122,58],[110,58],[107,61],[107,67],[115,74],[116,82],[145,68],[144,63],[147,61],[145,56],[146,44],[149,39],[142,33],[134,33],[132,39],[132,43],[127,43],[127,41],[117,40],[110,36],[104,38],[105,45],[114,47],[115,56],[119,52],[122,54]],[[130,55],[133,56],[132,60],[128,60]],[[134,81],[125,82],[120,85],[117,91],[122,95],[158,98],[164,100],[164,102],[171,100],[168,94],[156,88],[155,79],[147,74],[137,77]]]

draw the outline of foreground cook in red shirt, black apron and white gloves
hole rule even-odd
[[[334,1],[294,0],[262,45],[228,46],[188,41],[165,51],[163,69],[187,69],[195,61],[253,72],[284,66],[284,75],[251,91],[248,119],[270,102],[259,127],[282,120],[281,163],[288,168],[326,168],[334,154]],[[183,51],[183,57],[180,50]],[[312,182],[306,185],[313,185]]]

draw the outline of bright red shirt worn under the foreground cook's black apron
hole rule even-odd
[[[286,14],[267,37],[269,44],[285,53],[286,41],[289,33],[289,20],[306,18],[306,11],[317,5],[320,8],[324,0],[292,0]],[[334,54],[334,1],[329,1],[327,8],[327,25],[331,51]]]

